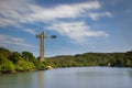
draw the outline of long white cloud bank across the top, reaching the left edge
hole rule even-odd
[[[52,8],[40,7],[30,0],[2,0],[0,2],[0,26],[8,24],[32,23],[32,22],[47,22],[59,18],[77,18],[88,14],[89,18],[100,18],[109,15],[110,12],[92,13],[92,10],[100,10],[99,1],[94,0],[89,2],[74,3],[74,4],[58,4]],[[90,14],[89,14],[90,12]],[[110,14],[111,15],[111,14]],[[4,19],[3,19],[4,18]]]

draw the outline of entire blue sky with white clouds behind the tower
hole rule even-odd
[[[132,50],[132,0],[0,0],[0,47],[45,56]]]

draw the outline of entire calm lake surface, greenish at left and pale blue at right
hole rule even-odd
[[[132,88],[132,68],[77,67],[0,75],[0,88]]]

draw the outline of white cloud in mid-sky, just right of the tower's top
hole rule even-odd
[[[108,36],[108,34],[103,31],[91,30],[90,26],[86,25],[84,22],[54,23],[47,29],[56,31],[62,35],[66,35],[78,43],[84,43],[87,37],[91,36],[92,37]]]

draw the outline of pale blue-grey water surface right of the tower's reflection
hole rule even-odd
[[[80,67],[46,72],[46,88],[132,88],[132,68]],[[51,82],[51,84],[50,84]]]

